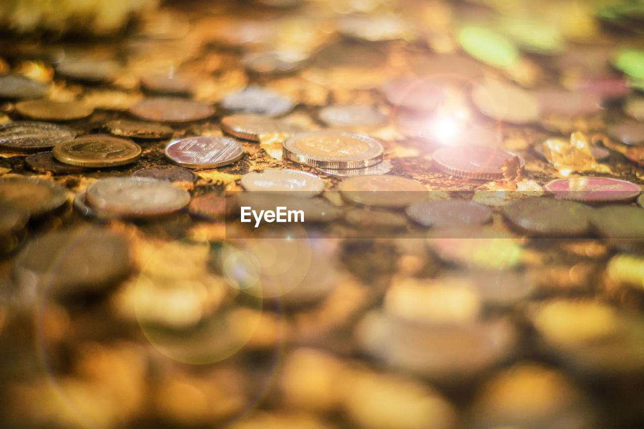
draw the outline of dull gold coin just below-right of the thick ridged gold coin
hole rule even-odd
[[[339,189],[352,202],[379,207],[406,207],[428,196],[423,184],[398,176],[350,177],[339,184]]]

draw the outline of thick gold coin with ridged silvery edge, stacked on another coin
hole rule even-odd
[[[308,166],[345,169],[369,167],[383,159],[383,145],[364,134],[312,131],[283,144],[284,157]]]

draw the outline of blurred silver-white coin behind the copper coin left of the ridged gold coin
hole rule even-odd
[[[259,86],[249,86],[245,90],[227,95],[222,100],[222,108],[231,113],[281,116],[293,107],[293,100],[289,97]]]

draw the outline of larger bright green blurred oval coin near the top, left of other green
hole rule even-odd
[[[488,28],[464,26],[458,37],[469,55],[491,66],[507,69],[519,58],[519,50],[512,41]]]

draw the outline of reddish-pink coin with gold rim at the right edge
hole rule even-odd
[[[589,203],[630,201],[641,192],[638,185],[626,180],[592,176],[554,179],[544,189],[567,200]]]

